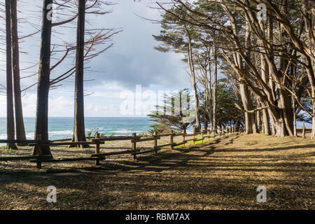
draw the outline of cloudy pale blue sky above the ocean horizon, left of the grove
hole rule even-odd
[[[154,49],[159,43],[152,35],[159,34],[160,25],[143,19],[160,19],[160,12],[151,8],[156,6],[153,1],[111,2],[116,5],[103,8],[111,13],[89,18],[87,25],[123,31],[113,36],[109,42],[113,43],[113,47],[85,65],[89,67],[85,71],[85,79],[90,80],[85,82],[85,94],[88,94],[85,97],[85,116],[146,116],[158,103],[159,94],[190,87],[186,64],[181,61],[183,55],[174,52],[163,53]],[[41,3],[39,0],[20,3],[19,17],[22,18],[19,24],[20,36],[31,33],[32,27],[40,27]],[[3,27],[3,22],[1,26]],[[76,30],[73,29],[63,34],[54,34],[52,40],[56,43],[59,40],[61,43],[61,38],[75,40],[75,37]],[[26,70],[23,68],[27,68],[29,63],[38,62],[39,44],[38,36],[22,40],[20,44],[23,52],[20,55],[22,77],[37,71],[38,66]],[[5,55],[1,54],[0,59],[2,68],[0,83],[6,85]],[[52,77],[66,71],[71,63],[73,64],[73,60],[60,64],[52,73]],[[36,79],[37,76],[22,79],[22,89],[36,83]],[[50,117],[73,116],[73,92],[73,77],[62,82],[62,86],[50,90],[48,109]],[[23,92],[22,104],[24,116],[34,117],[36,85]],[[0,95],[0,108],[0,117],[6,117],[6,96],[3,94]]]

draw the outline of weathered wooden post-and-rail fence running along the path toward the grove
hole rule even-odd
[[[132,134],[132,136],[118,136],[118,137],[99,137],[99,134],[96,133],[95,137],[93,139],[90,139],[90,141],[78,141],[73,142],[71,139],[60,139],[60,140],[0,140],[0,143],[22,143],[22,144],[28,144],[29,146],[34,147],[41,147],[41,146],[71,146],[71,145],[82,145],[82,144],[88,144],[88,145],[94,145],[95,152],[94,154],[90,155],[90,157],[72,157],[72,158],[52,158],[52,155],[41,155],[41,150],[39,150],[37,155],[32,156],[16,156],[16,157],[0,157],[0,162],[6,162],[6,161],[16,161],[16,160],[29,160],[29,162],[36,163],[36,167],[38,169],[41,169],[41,164],[43,162],[71,162],[71,161],[84,161],[84,160],[95,160],[95,165],[99,165],[100,160],[105,160],[106,157],[111,155],[127,155],[130,154],[132,157],[132,160],[137,159],[137,155],[144,154],[144,153],[158,153],[158,151],[162,150],[162,148],[165,148],[167,146],[170,146],[171,149],[173,149],[176,146],[185,146],[188,141],[193,141],[193,144],[195,144],[195,141],[204,141],[206,138],[216,138],[221,137],[225,134],[233,134],[235,133],[235,127],[221,127],[217,130],[201,130],[201,132],[196,132],[195,128],[193,129],[193,134],[185,134],[182,133],[176,133],[171,132],[167,134],[156,134],[154,133],[151,136],[148,137],[141,137],[137,135],[136,133]],[[182,141],[179,143],[174,143],[174,137],[182,137]],[[161,137],[169,137],[169,143],[158,145],[158,139]],[[193,137],[193,139],[186,139],[187,137]],[[38,138],[36,138],[38,139]],[[101,153],[101,145],[105,144],[105,141],[121,141],[121,140],[130,140],[132,143],[132,148],[127,151],[118,151],[118,152],[109,152],[109,153]],[[148,149],[145,151],[140,151],[140,149],[137,149],[137,143],[144,142],[144,141],[153,141],[153,148]]]

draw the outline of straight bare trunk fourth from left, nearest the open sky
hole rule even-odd
[[[84,35],[85,34],[85,0],[78,3],[78,26],[76,37],[76,87],[74,96],[73,141],[86,141],[84,123]],[[74,145],[73,145],[74,146]],[[89,147],[80,145],[80,147]]]

